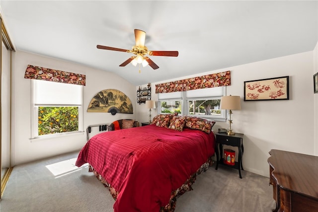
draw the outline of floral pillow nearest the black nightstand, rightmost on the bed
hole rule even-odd
[[[213,125],[215,124],[214,120],[209,120],[206,118],[188,116],[186,118],[185,125],[191,129],[199,129],[203,132],[210,133]]]

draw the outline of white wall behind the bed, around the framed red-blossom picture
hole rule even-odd
[[[313,51],[310,51],[195,75],[231,71],[227,95],[241,97],[241,110],[234,111],[232,128],[244,133],[244,170],[269,176],[267,158],[271,149],[314,155],[313,64]],[[244,81],[283,76],[289,76],[290,100],[243,101]],[[194,75],[178,79],[190,77]],[[158,100],[156,84],[178,79],[153,82],[152,100]],[[317,106],[315,108],[317,111]],[[146,108],[137,107],[140,119],[147,121],[147,114]],[[315,120],[317,122],[317,115]],[[228,123],[217,122],[213,129],[221,127],[228,128]],[[317,131],[317,124],[315,129]]]

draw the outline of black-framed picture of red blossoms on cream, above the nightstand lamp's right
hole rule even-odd
[[[244,101],[289,100],[289,76],[244,82]]]

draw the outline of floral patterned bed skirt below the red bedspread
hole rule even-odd
[[[212,161],[212,157],[210,157],[207,160],[207,162],[202,164],[202,166],[196,171],[196,173],[191,175],[190,178],[187,179],[180,188],[171,192],[169,203],[166,206],[161,207],[160,212],[174,212],[177,198],[179,198],[185,192],[193,190],[191,186],[196,181],[196,176],[201,174],[202,172],[207,171],[209,167],[212,165],[213,165],[213,161]],[[88,164],[88,171],[94,173],[96,178],[104,185],[104,187],[108,189],[112,198],[116,200],[118,196],[118,192],[100,174],[98,174],[96,170],[90,164]]]

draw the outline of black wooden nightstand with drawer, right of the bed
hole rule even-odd
[[[215,169],[218,170],[219,163],[220,163],[220,164],[223,164],[225,166],[232,167],[234,169],[238,169],[239,170],[239,178],[242,178],[240,170],[244,170],[243,165],[242,165],[242,156],[243,156],[243,152],[244,152],[244,146],[243,146],[244,134],[235,133],[235,135],[228,135],[228,133],[217,132],[217,133],[215,133],[215,135],[216,135],[216,143],[217,143],[217,146],[216,146],[217,165],[216,165]],[[228,165],[228,164],[223,163],[223,155],[222,155],[223,145],[236,146],[239,148],[238,162],[235,162],[235,165]],[[219,153],[221,154],[220,159],[219,159]]]

